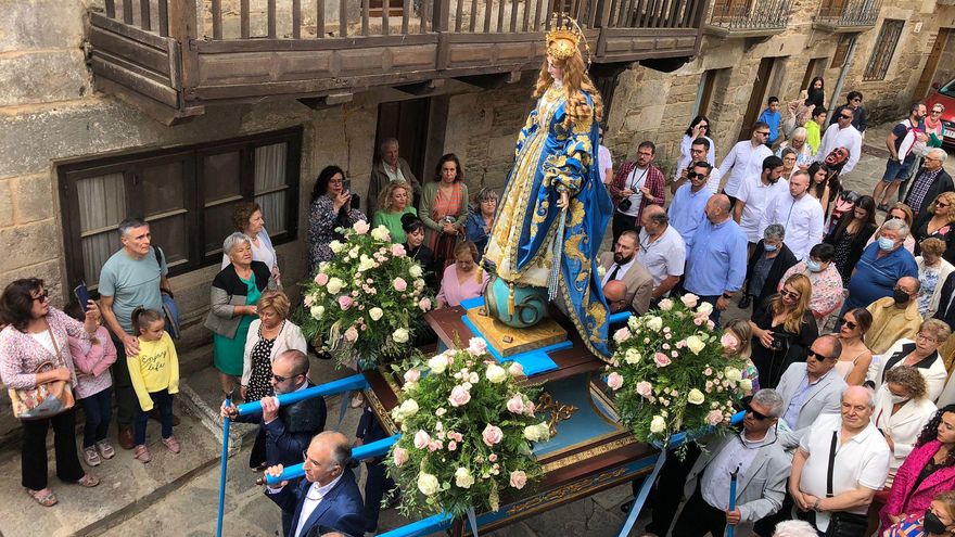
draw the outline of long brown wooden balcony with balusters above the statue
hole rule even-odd
[[[689,57],[706,1],[105,0],[90,11],[90,64],[98,89],[171,124],[215,104],[513,81],[539,68],[558,13],[595,64]]]

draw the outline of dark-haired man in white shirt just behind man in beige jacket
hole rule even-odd
[[[653,279],[651,299],[670,295],[679,282],[686,265],[686,244],[679,232],[670,226],[670,217],[659,205],[644,209],[640,230],[640,247],[637,263],[650,272]]]

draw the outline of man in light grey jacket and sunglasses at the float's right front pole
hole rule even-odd
[[[684,504],[672,535],[722,536],[726,525],[750,535],[753,523],[779,511],[786,494],[790,459],[777,442],[776,423],[782,397],[761,389],[742,401],[739,434],[714,440],[697,459],[684,485]],[[737,480],[736,508],[729,510],[729,474]]]

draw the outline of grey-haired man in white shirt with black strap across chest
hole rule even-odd
[[[810,522],[825,533],[833,513],[866,528],[866,510],[889,475],[891,452],[871,423],[873,393],[850,386],[840,414],[823,414],[800,440],[792,459],[789,494]],[[830,459],[832,463],[830,464]],[[831,466],[831,473],[830,473]]]

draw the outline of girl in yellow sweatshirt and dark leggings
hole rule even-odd
[[[132,455],[147,463],[152,457],[145,447],[145,425],[153,406],[158,408],[162,418],[163,444],[174,453],[181,449],[173,436],[173,394],[179,393],[179,358],[158,311],[136,308],[132,328],[139,336],[139,354],[127,356],[126,365],[140,407],[132,433],[136,443]]]

